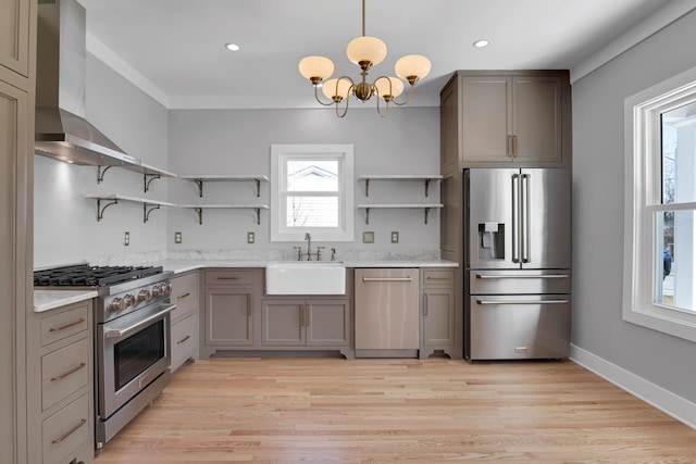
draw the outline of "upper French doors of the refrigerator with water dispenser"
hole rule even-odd
[[[469,170],[468,267],[568,268],[567,170]]]

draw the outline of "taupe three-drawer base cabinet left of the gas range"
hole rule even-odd
[[[28,462],[89,463],[95,456],[91,300],[28,319]]]

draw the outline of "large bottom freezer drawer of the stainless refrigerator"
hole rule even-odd
[[[570,296],[471,296],[470,359],[570,354]]]

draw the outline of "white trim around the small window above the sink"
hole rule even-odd
[[[287,205],[283,202],[285,165],[298,158],[336,159],[339,162],[338,227],[285,226]],[[352,145],[272,145],[271,146],[271,241],[303,241],[310,233],[316,241],[353,240],[353,146]]]

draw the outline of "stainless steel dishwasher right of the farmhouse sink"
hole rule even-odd
[[[356,358],[417,358],[419,269],[356,269]]]

